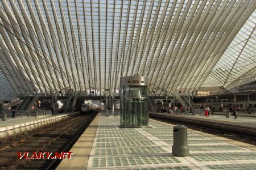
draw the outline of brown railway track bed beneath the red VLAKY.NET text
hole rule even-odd
[[[72,116],[55,124],[42,126],[26,134],[3,139],[0,143],[0,169],[54,169],[59,159],[19,159],[17,151],[69,151],[96,113]]]

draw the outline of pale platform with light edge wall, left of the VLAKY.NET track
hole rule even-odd
[[[11,135],[16,135],[23,133],[27,130],[32,130],[38,128],[39,126],[51,124],[71,116],[72,114],[77,114],[79,112],[72,113],[57,113],[51,116],[39,116],[39,117],[17,117],[17,118],[7,118],[7,121],[0,121],[0,139],[9,137]]]

